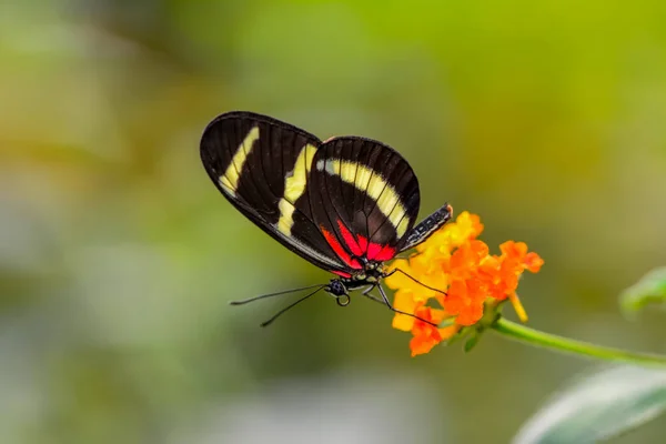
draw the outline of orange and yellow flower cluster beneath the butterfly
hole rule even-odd
[[[403,273],[393,273],[386,284],[396,290],[394,307],[408,313],[396,313],[393,327],[412,332],[412,356],[477,324],[488,303],[508,299],[518,317],[527,320],[516,295],[518,280],[525,270],[538,272],[544,261],[528,252],[524,242],[515,241],[501,244],[501,254],[490,254],[488,246],[476,239],[483,228],[477,215],[465,211],[417,245],[416,254],[392,263],[392,269]],[[427,305],[431,301],[440,307]],[[448,325],[435,327],[424,321],[447,321]]]

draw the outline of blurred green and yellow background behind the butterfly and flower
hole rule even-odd
[[[204,173],[235,109],[385,141],[422,216],[542,254],[533,326],[664,352],[663,313],[617,307],[666,263],[664,23],[659,0],[2,2],[2,442],[506,443],[593,365],[493,334],[412,359],[360,297],[268,330],[291,299],[229,306],[329,279]]]

